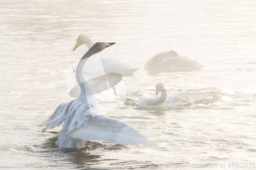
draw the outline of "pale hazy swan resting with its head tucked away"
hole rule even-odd
[[[157,54],[145,63],[145,69],[173,72],[196,70],[202,66],[199,62],[179,56],[174,51]]]

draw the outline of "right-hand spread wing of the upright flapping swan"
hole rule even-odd
[[[92,114],[92,112],[94,112]],[[97,112],[97,113],[95,113]],[[101,140],[122,144],[146,144],[149,141],[139,132],[119,120],[99,115],[94,108],[80,107],[70,124],[68,135],[83,140]],[[98,115],[92,117],[92,115]]]

